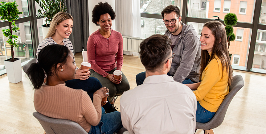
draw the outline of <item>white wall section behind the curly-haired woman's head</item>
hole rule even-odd
[[[99,2],[108,2],[113,10],[116,10],[116,2],[115,0],[105,0],[105,1],[101,1],[101,0],[88,0],[88,4],[89,4],[89,28],[90,28],[90,35],[95,32],[96,30],[98,30],[100,28],[100,26],[96,26],[94,23],[92,23],[92,10],[94,8],[95,5],[97,5]],[[116,21],[115,19],[112,21],[112,27],[113,30],[116,30]]]

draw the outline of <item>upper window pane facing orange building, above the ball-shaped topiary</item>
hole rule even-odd
[[[250,6],[248,9],[247,5]],[[252,23],[253,13],[255,10],[254,7],[254,1],[189,0],[187,16],[208,19],[217,19],[213,16],[218,16],[220,19],[223,20],[224,16],[227,13],[235,13],[238,18],[238,22]],[[266,2],[264,8],[265,10],[263,11],[266,14]],[[265,20],[266,15],[264,22]]]

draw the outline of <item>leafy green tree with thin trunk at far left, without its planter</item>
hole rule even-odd
[[[0,16],[1,20],[9,22],[9,29],[3,29],[3,35],[8,38],[6,41],[11,46],[11,62],[16,61],[14,59],[14,51],[13,47],[18,47],[17,38],[18,36],[12,35],[12,31],[17,32],[19,29],[14,20],[18,19],[18,15],[22,14],[22,12],[18,11],[18,5],[16,2],[1,2],[0,5]]]

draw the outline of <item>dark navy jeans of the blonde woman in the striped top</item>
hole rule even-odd
[[[69,81],[65,81],[66,86],[73,88],[73,89],[82,89],[88,93],[90,98],[93,101],[93,94],[95,91],[102,88],[102,84],[100,81],[94,77],[89,77],[87,80],[80,80],[80,79],[73,79]],[[109,100],[107,99],[108,103],[106,103],[103,108],[105,110],[112,110],[113,106],[110,104]]]

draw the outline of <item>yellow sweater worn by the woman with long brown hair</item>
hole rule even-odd
[[[194,91],[197,101],[208,111],[216,112],[229,93],[228,73],[225,68],[222,78],[222,63],[216,55],[204,69],[201,80]]]

